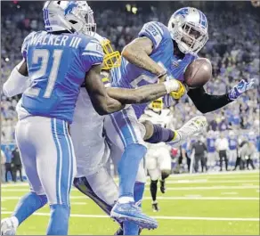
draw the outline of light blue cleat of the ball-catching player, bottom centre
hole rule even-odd
[[[112,208],[110,216],[119,222],[134,222],[142,229],[156,229],[158,227],[157,221],[143,214],[141,208],[137,207],[134,202],[117,202]]]

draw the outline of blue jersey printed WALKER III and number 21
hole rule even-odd
[[[97,39],[69,33],[32,32],[21,47],[32,84],[22,94],[29,115],[72,122],[85,73],[103,61]]]

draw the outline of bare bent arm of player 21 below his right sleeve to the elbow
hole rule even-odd
[[[99,115],[107,115],[125,107],[107,94],[101,78],[102,65],[93,65],[85,75],[85,89],[89,94],[94,110]]]

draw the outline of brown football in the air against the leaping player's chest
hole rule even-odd
[[[203,86],[212,77],[212,65],[207,58],[198,58],[191,62],[184,73],[185,84],[190,88]]]

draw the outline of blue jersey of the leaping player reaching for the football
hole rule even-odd
[[[150,21],[142,27],[138,37],[148,37],[153,43],[150,58],[167,69],[170,77],[183,81],[183,73],[186,67],[197,56],[187,53],[182,60],[174,55],[174,42],[167,27],[157,21]],[[158,78],[145,69],[136,67],[134,64],[122,58],[121,66],[112,69],[112,86],[135,88],[142,85],[158,83]],[[139,118],[147,104],[133,105],[137,118]]]

